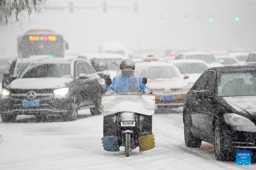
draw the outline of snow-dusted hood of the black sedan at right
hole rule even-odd
[[[256,96],[223,97],[238,112],[256,114]]]

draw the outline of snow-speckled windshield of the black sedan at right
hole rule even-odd
[[[219,96],[255,96],[256,72],[220,74]]]

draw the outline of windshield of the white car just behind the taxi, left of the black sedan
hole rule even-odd
[[[178,67],[181,74],[201,74],[208,67],[204,63],[173,63],[174,66]]]

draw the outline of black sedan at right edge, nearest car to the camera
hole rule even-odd
[[[186,95],[184,136],[188,147],[214,145],[217,160],[237,150],[256,154],[256,65],[207,69]]]

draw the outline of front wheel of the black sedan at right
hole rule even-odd
[[[224,135],[220,128],[219,120],[216,120],[214,128],[214,153],[217,160],[226,161],[229,158],[228,148],[225,146]]]

